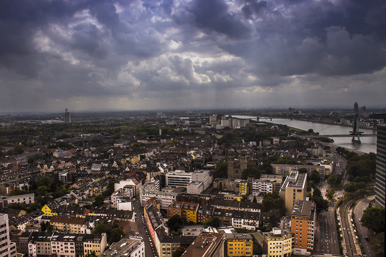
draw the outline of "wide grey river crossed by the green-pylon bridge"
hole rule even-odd
[[[251,118],[256,119],[256,117],[250,116],[233,116],[236,118]],[[314,132],[319,132],[320,135],[341,135],[341,134],[349,134],[349,131],[352,131],[352,127],[346,127],[337,124],[326,124],[326,123],[318,123],[318,122],[309,122],[304,120],[290,120],[285,118],[273,118],[272,121],[269,118],[260,118],[262,122],[271,122],[276,124],[284,124],[289,127],[299,128],[301,130],[308,130],[310,128],[313,129]],[[377,134],[376,131],[366,128],[360,128],[360,131],[363,131],[364,134]],[[361,152],[377,152],[377,138],[376,137],[361,137],[361,144],[351,142],[351,137],[334,137],[332,145],[334,147],[340,146],[347,149],[357,150]]]

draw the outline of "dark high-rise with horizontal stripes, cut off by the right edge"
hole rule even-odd
[[[386,125],[377,126],[377,166],[375,205],[385,208],[386,192]]]

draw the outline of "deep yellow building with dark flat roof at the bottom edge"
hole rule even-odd
[[[252,256],[252,236],[249,233],[227,234],[227,253],[229,257]]]

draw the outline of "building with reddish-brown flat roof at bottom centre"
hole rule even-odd
[[[223,257],[223,233],[201,232],[181,257]]]

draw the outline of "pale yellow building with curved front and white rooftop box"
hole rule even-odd
[[[272,232],[263,233],[263,254],[267,257],[288,257],[292,252],[293,234],[291,228],[273,228]]]

